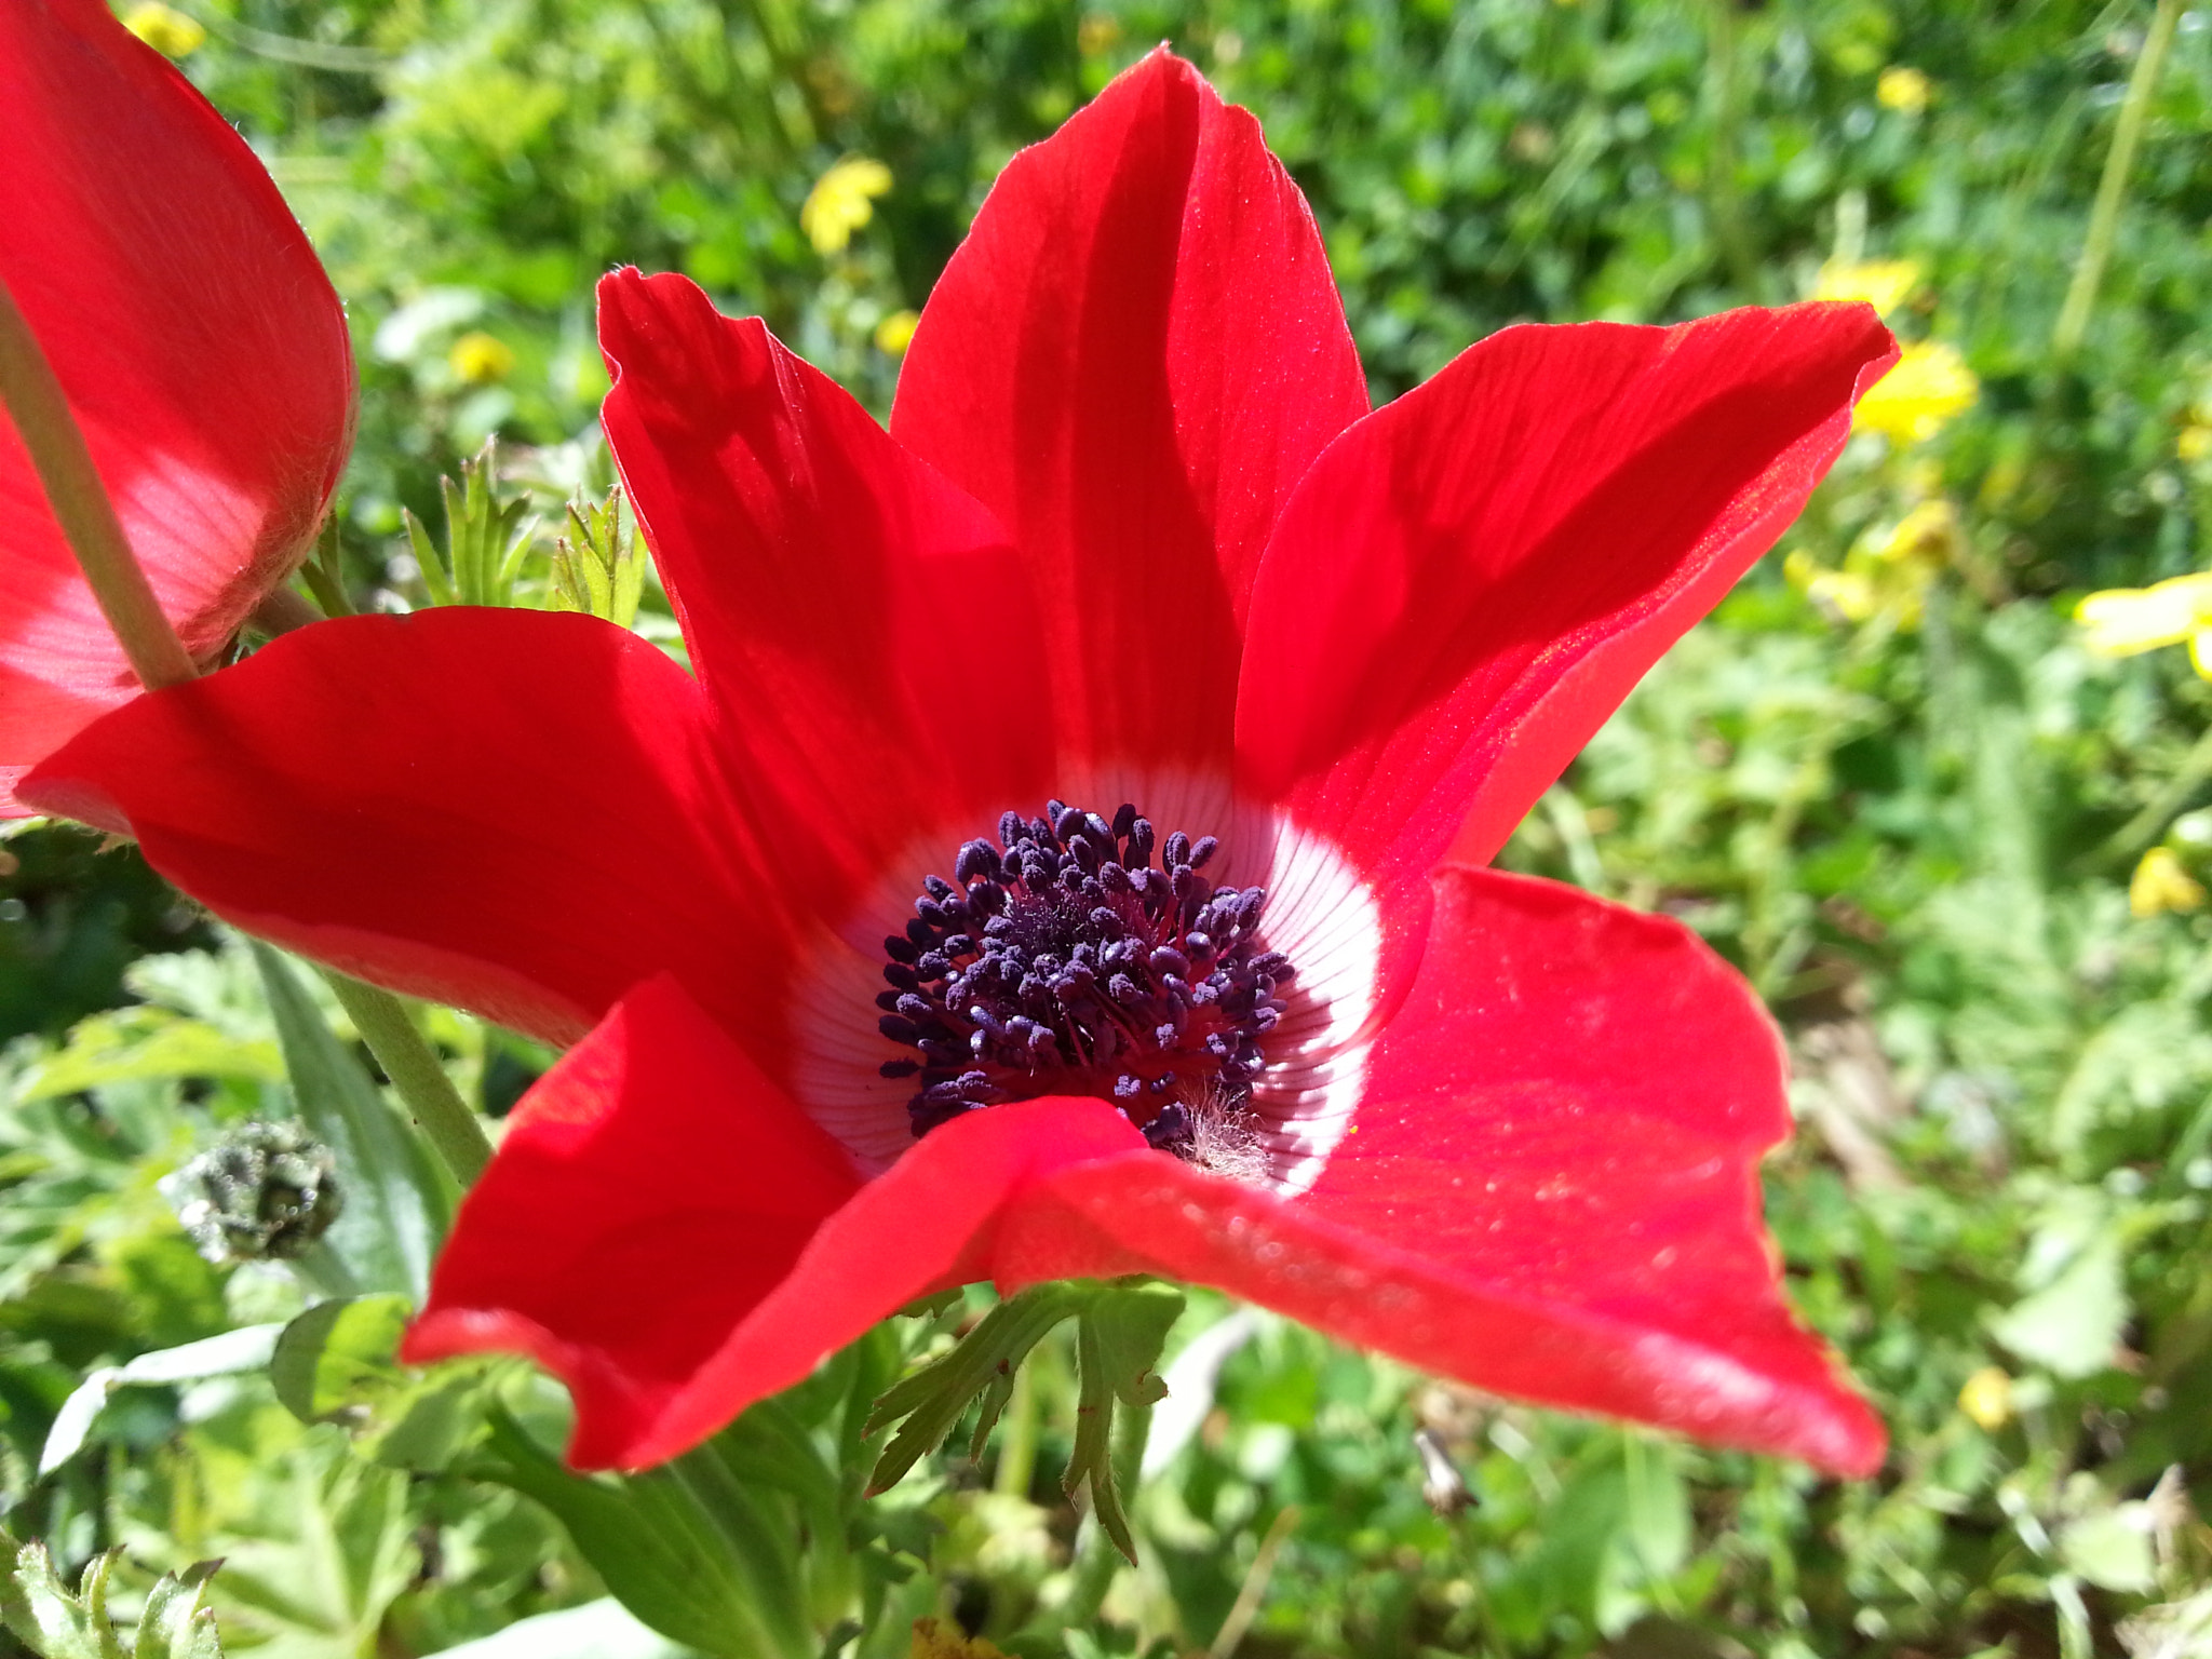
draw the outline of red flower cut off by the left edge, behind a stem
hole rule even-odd
[[[0,283],[204,666],[299,564],[354,429],[345,312],[268,173],[102,0],[0,4]],[[0,816],[139,690],[0,411]]]

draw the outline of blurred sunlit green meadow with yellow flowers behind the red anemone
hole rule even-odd
[[[436,531],[438,478],[493,434],[544,538],[604,487],[591,285],[613,263],[690,272],[883,411],[902,314],[995,170],[1159,40],[1312,197],[1378,398],[1511,321],[1887,290],[1922,394],[1506,852],[1686,918],[1770,998],[1801,1108],[1770,1219],[1796,1305],[1891,1425],[1887,1471],[1836,1484],[1546,1416],[1259,1321],[1137,1504],[1144,1571],[1068,1650],[2212,1652],[2212,686],[2181,650],[2093,655],[2073,622],[2088,591],[2212,560],[2208,11],[122,9],[254,142],[349,305],[361,604],[427,602],[403,509]],[[841,237],[830,197],[865,221]],[[641,626],[668,637],[650,591]],[[95,1367],[283,1318],[299,1290],[206,1265],[153,1188],[283,1108],[252,967],[131,852],[38,825],[7,847],[0,1520],[69,1566],[226,1555],[226,1641],[288,1659],[434,1652],[604,1595],[546,1511],[473,1478],[467,1433],[387,1455],[374,1413],[352,1440],[301,1427],[252,1376],[124,1385],[38,1473]],[[458,1018],[434,1033],[493,1108],[544,1064]],[[1183,1329],[1225,1314],[1199,1298]],[[918,1568],[902,1593],[989,1632],[1066,1588],[1057,1349],[1026,1409],[1033,1467],[947,1455],[883,1520]],[[1422,1498],[1418,1427],[1464,1471],[1458,1515]],[[628,1652],[599,1641],[575,1652]]]

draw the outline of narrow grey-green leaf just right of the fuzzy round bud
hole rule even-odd
[[[299,973],[254,945],[301,1121],[338,1157],[345,1212],[323,1241],[363,1292],[422,1301],[451,1219],[449,1188],[407,1119],[330,1033]]]

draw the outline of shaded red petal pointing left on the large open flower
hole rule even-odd
[[[717,1011],[776,1002],[790,949],[710,743],[690,677],[622,628],[425,611],[139,697],[24,799],[135,834],[261,938],[566,1042],[661,969]]]

